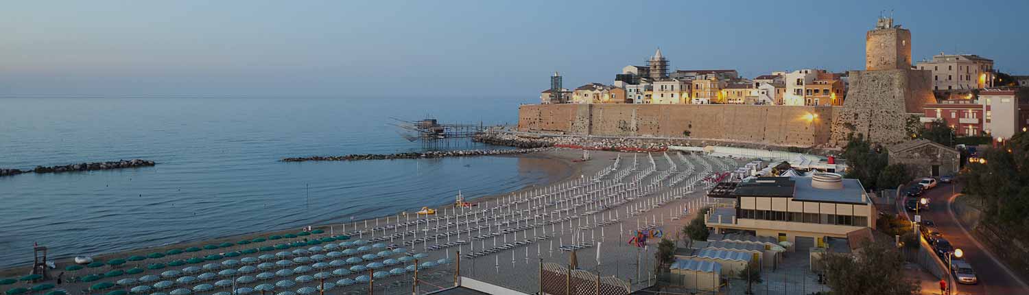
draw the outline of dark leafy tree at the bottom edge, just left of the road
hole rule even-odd
[[[821,261],[836,294],[918,294],[920,286],[903,273],[903,257],[892,243],[867,243],[854,254],[826,253]]]

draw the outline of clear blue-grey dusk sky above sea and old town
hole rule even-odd
[[[538,98],[611,83],[660,47],[745,77],[861,70],[880,11],[913,59],[1029,74],[1029,1],[14,1],[0,97]]]

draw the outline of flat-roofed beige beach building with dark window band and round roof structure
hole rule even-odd
[[[864,187],[838,174],[720,183],[708,195],[734,200],[733,208],[705,214],[715,232],[773,236],[790,242],[788,251],[824,248],[828,237],[846,238],[848,232],[875,228],[877,212]]]

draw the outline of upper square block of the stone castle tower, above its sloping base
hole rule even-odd
[[[879,17],[864,36],[864,69],[911,69],[911,31],[893,26],[891,17]]]

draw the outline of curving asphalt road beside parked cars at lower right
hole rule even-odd
[[[956,285],[955,294],[1029,294],[1029,287],[1020,282],[1006,266],[995,259],[995,256],[985,251],[983,246],[966,231],[970,228],[963,229],[959,224],[951,211],[951,202],[958,195],[954,192],[957,191],[961,191],[960,184],[942,183],[927,190],[923,196],[929,199],[929,209],[919,212],[922,220],[933,221],[944,237],[952,246],[964,252],[963,259],[975,269],[979,284]],[[914,215],[914,213],[909,214]]]

